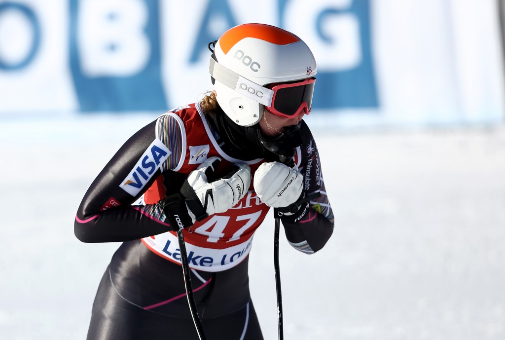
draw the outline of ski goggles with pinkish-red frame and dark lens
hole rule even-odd
[[[312,109],[315,82],[316,78],[308,78],[297,82],[267,85],[274,93],[271,106],[266,106],[265,109],[285,118],[294,118],[302,111],[308,115]]]

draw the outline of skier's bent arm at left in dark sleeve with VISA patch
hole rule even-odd
[[[159,204],[131,206],[180,156],[180,151],[167,147],[169,138],[180,138],[180,127],[167,115],[158,121],[172,124],[173,135],[163,135],[166,140],[161,140],[156,136],[157,122],[146,125],[123,144],[92,182],[74,223],[81,241],[125,241],[171,230],[163,222]]]

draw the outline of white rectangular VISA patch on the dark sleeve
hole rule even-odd
[[[167,146],[160,139],[155,139],[119,186],[131,196],[137,196],[170,154]]]

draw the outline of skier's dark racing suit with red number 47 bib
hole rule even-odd
[[[197,338],[177,237],[158,201],[178,192],[188,174],[212,156],[222,159],[218,178],[238,162],[247,163],[254,177],[269,161],[229,155],[218,130],[198,104],[167,112],[128,139],[87,190],[75,219],[76,236],[84,242],[123,241],[100,282],[88,339]],[[321,195],[281,221],[291,246],[312,254],[329,239],[333,213],[316,144],[304,122],[302,137],[294,162],[304,176],[306,197]],[[208,339],[263,338],[250,301],[247,260],[269,207],[252,182],[235,207],[183,231]]]

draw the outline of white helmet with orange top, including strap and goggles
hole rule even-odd
[[[238,125],[258,123],[264,108],[284,117],[311,110],[316,61],[304,41],[281,28],[230,28],[215,43],[209,71],[220,107]]]

